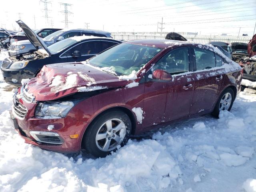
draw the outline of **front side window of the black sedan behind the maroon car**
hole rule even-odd
[[[100,47],[100,41],[88,41],[74,46],[66,51],[62,56],[72,56],[74,51],[80,51],[81,55],[97,54]]]

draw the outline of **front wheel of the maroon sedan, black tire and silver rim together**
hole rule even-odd
[[[86,129],[82,148],[95,157],[105,157],[115,151],[118,145],[124,146],[132,130],[132,123],[121,110],[99,115]]]

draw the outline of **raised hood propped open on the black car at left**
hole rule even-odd
[[[36,47],[36,49],[40,49],[40,47],[44,48],[49,55],[51,55],[50,51],[47,49],[47,46],[41,40],[41,38],[35,34],[22,20],[16,21],[20,28],[22,28],[24,34],[30,40],[30,42]]]

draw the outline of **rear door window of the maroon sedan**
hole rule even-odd
[[[216,66],[214,52],[194,48],[196,57],[196,70],[210,69]]]

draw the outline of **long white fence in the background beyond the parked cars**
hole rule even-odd
[[[137,40],[137,39],[165,39],[166,34],[160,36],[160,34],[150,34],[150,33],[141,33],[141,34],[132,34],[128,32],[120,32],[120,33],[111,33],[114,39],[119,40]],[[211,41],[222,41],[222,42],[242,42],[248,43],[252,36],[220,36],[220,35],[182,35],[188,41],[192,41],[195,43],[207,44]]]

